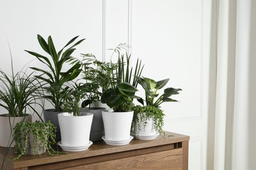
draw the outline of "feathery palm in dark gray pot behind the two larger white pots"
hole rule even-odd
[[[112,73],[116,70],[117,64],[98,61],[92,54],[82,54],[80,86],[85,88],[85,99],[81,104],[81,111],[92,112],[93,123],[91,126],[91,141],[101,141],[104,135],[102,110],[110,109],[108,105],[100,103],[100,97],[106,89],[116,83]],[[98,104],[100,103],[100,105]]]

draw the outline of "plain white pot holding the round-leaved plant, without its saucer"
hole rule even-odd
[[[125,141],[131,138],[131,122],[133,111],[131,112],[110,112],[102,111],[102,118],[105,129],[106,140]]]

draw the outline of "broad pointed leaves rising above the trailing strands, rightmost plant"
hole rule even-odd
[[[160,107],[161,103],[177,101],[175,99],[171,99],[170,97],[171,95],[179,94],[179,91],[181,91],[180,88],[165,88],[161,95],[158,93],[158,90],[167,84],[169,78],[160,80],[158,82],[146,77],[135,76],[135,78],[145,91],[145,100],[142,98],[138,100],[142,105],[144,105],[144,101],[146,101],[146,105]]]

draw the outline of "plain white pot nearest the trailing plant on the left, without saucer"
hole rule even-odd
[[[61,144],[63,146],[85,146],[89,144],[93,113],[81,112],[81,116],[72,116],[68,112],[58,114]]]

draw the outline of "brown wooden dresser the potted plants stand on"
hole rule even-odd
[[[95,142],[88,150],[59,156],[22,156],[13,161],[14,149],[7,154],[3,169],[188,169],[186,135],[165,132],[151,141],[133,140],[125,146]],[[0,147],[0,162],[7,148]]]

